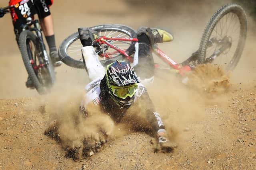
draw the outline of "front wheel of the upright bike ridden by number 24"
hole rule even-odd
[[[55,72],[50,57],[48,64],[43,60],[37,37],[29,30],[24,30],[19,36],[19,47],[25,68],[39,94],[45,94],[54,84]]]

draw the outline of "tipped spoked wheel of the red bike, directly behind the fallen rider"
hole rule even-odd
[[[98,31],[99,36],[106,36],[106,37],[119,37],[119,38],[136,38],[136,32],[134,29],[119,24],[105,24],[105,25],[98,25],[89,27],[92,30]],[[113,41],[113,40],[106,40],[112,45],[117,46],[120,49],[129,52],[130,49],[134,47],[134,43],[132,41]],[[84,64],[82,61],[82,54],[81,48],[82,44],[79,39],[78,32],[71,34],[67,37],[60,45],[59,48],[59,56],[63,63],[67,64],[68,66],[74,68],[84,68]],[[107,47],[106,45],[102,45],[100,49],[95,48],[96,53],[98,53],[98,57],[100,63],[103,66],[106,66],[108,63],[112,63],[116,60],[122,60],[124,57],[114,49]],[[105,54],[111,56],[111,58],[105,58]]]

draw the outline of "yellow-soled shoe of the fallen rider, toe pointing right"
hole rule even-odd
[[[168,33],[164,29],[151,29],[154,35],[154,43],[163,43],[173,40],[172,34]]]

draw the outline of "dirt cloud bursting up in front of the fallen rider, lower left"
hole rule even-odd
[[[53,116],[45,135],[58,141],[67,151],[67,157],[77,160],[91,156],[114,135],[114,121],[99,109],[88,109],[90,115],[85,116],[78,103],[64,106]]]

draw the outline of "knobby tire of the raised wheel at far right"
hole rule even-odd
[[[198,51],[198,63],[204,63],[206,59],[206,49],[207,49],[207,43],[208,40],[214,31],[214,27],[218,23],[218,21],[221,20],[222,17],[224,17],[228,13],[235,14],[239,21],[240,21],[240,36],[238,40],[238,45],[236,47],[236,51],[234,52],[234,55],[232,57],[232,60],[227,66],[227,70],[233,70],[235,66],[237,65],[246,41],[246,35],[247,35],[247,19],[246,19],[246,13],[243,10],[243,8],[237,4],[226,4],[222,6],[220,9],[218,9],[210,21],[208,21],[208,24],[206,28],[204,29],[201,41],[200,41],[200,47]]]

